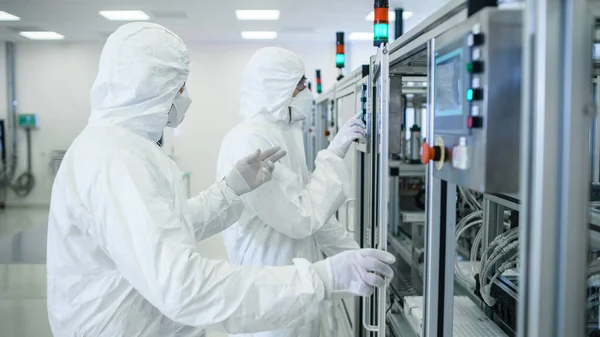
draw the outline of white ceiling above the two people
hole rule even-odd
[[[414,15],[405,31],[446,0],[391,0]],[[242,30],[275,30],[280,41],[335,41],[336,31],[368,32],[373,0],[0,0],[0,10],[21,17],[0,22],[0,40],[22,41],[20,30],[51,30],[68,41],[101,41],[122,22],[100,10],[139,9],[186,41],[240,41]],[[236,9],[279,9],[278,21],[238,21]]]

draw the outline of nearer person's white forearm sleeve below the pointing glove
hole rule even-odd
[[[196,241],[202,241],[229,228],[240,219],[244,211],[241,199],[223,180],[188,199],[187,203]]]

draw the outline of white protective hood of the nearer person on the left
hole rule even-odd
[[[177,35],[152,23],[123,25],[102,50],[89,123],[119,126],[158,141],[188,74],[187,47]]]

